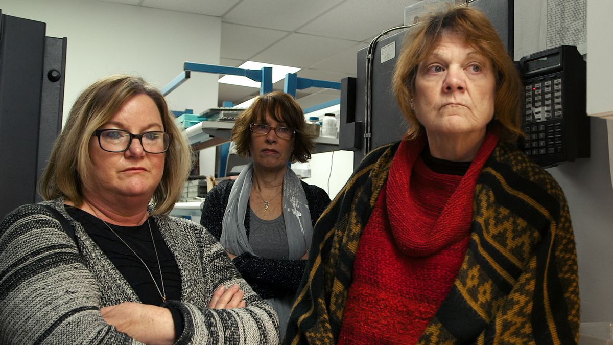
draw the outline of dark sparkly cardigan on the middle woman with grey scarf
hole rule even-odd
[[[307,195],[311,222],[313,226],[330,203],[326,191],[303,181],[302,188]],[[200,224],[219,240],[221,237],[221,221],[226,212],[230,190],[234,180],[223,180],[207,193],[202,206]],[[245,229],[249,237],[249,207],[245,214]],[[262,298],[284,297],[294,295],[300,284],[300,278],[305,269],[306,260],[274,260],[255,257],[248,253],[238,255],[234,265],[253,290]]]

